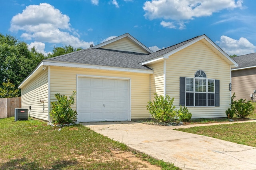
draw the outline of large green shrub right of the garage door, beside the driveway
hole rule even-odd
[[[169,95],[157,95],[154,93],[154,101],[149,101],[147,109],[149,113],[157,120],[171,123],[178,121],[178,111],[173,106],[174,97],[171,99]]]

